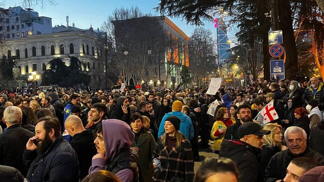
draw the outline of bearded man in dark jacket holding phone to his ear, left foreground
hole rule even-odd
[[[79,182],[78,157],[63,139],[56,118],[43,117],[35,127],[36,135],[26,144],[23,159],[29,167],[29,182]]]

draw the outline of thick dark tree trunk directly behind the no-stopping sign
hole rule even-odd
[[[286,79],[294,79],[298,72],[297,48],[293,29],[292,10],[289,0],[279,0],[279,27],[283,30],[283,45],[286,51]]]

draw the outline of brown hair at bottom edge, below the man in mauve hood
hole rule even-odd
[[[85,177],[82,182],[121,182],[112,172],[99,170]]]

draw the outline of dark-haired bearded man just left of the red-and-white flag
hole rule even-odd
[[[252,122],[252,110],[249,105],[243,104],[237,108],[240,116],[240,122],[234,123],[229,126],[225,132],[224,139],[226,140],[240,140],[238,136],[238,128],[246,122]]]

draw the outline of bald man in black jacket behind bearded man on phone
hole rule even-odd
[[[84,129],[79,117],[71,115],[65,121],[65,129],[72,136],[70,144],[78,155],[80,180],[88,175],[92,157],[97,154],[95,138],[91,130]]]

